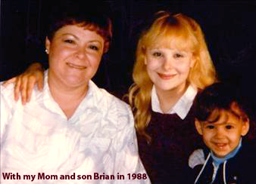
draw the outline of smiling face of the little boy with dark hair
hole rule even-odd
[[[211,113],[214,116],[214,112]],[[195,121],[195,127],[203,136],[204,143],[218,158],[223,158],[236,149],[241,136],[249,130],[248,118],[241,118],[233,112],[220,110],[216,122]]]

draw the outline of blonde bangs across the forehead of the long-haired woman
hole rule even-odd
[[[151,34],[150,34],[151,33]],[[145,38],[147,48],[175,48],[179,51],[194,52],[198,41],[192,32],[181,23],[154,25]]]

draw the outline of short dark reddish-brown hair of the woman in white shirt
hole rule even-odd
[[[110,17],[103,12],[88,11],[70,8],[71,11],[58,12],[53,14],[48,24],[46,35],[52,41],[55,32],[67,25],[79,25],[95,31],[105,40],[105,52],[108,51],[109,43],[112,38],[112,23]]]

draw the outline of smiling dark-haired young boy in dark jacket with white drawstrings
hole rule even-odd
[[[195,127],[207,147],[189,157],[194,183],[256,183],[255,145],[242,143],[249,119],[239,97],[223,83],[198,94]]]

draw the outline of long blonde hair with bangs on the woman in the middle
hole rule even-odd
[[[204,34],[201,27],[184,14],[170,14],[159,11],[151,26],[142,32],[136,48],[136,62],[133,68],[134,84],[129,90],[129,103],[132,106],[136,130],[151,140],[145,133],[151,120],[151,89],[153,83],[148,77],[145,66],[145,53],[151,47],[177,48],[190,51],[195,58],[195,65],[190,69],[187,82],[198,89],[217,81],[214,64],[212,63]]]

